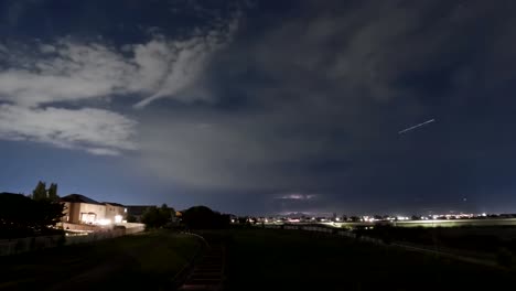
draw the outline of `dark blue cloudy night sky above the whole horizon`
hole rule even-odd
[[[509,0],[2,0],[0,192],[515,213],[514,15]]]

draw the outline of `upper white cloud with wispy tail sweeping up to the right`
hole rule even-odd
[[[184,93],[229,41],[234,23],[181,40],[153,35],[123,50],[71,39],[40,44],[35,53],[10,48],[4,60],[9,66],[0,71],[0,100],[36,107],[136,94],[143,97],[136,105],[141,108],[163,97],[186,103],[205,98]]]

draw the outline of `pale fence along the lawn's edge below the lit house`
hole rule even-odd
[[[125,235],[132,235],[144,230],[142,224],[122,224],[126,228],[116,228],[111,230],[101,230],[78,236],[43,236],[43,237],[26,237],[9,240],[0,240],[0,256],[15,255],[32,250],[45,248],[54,248],[63,245],[76,245],[84,242],[93,242]]]

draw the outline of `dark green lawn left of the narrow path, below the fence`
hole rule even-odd
[[[194,237],[159,231],[0,257],[0,290],[158,290],[198,247]]]

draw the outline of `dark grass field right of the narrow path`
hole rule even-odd
[[[512,290],[516,287],[514,273],[346,238],[275,229],[241,229],[232,234],[229,290]]]

